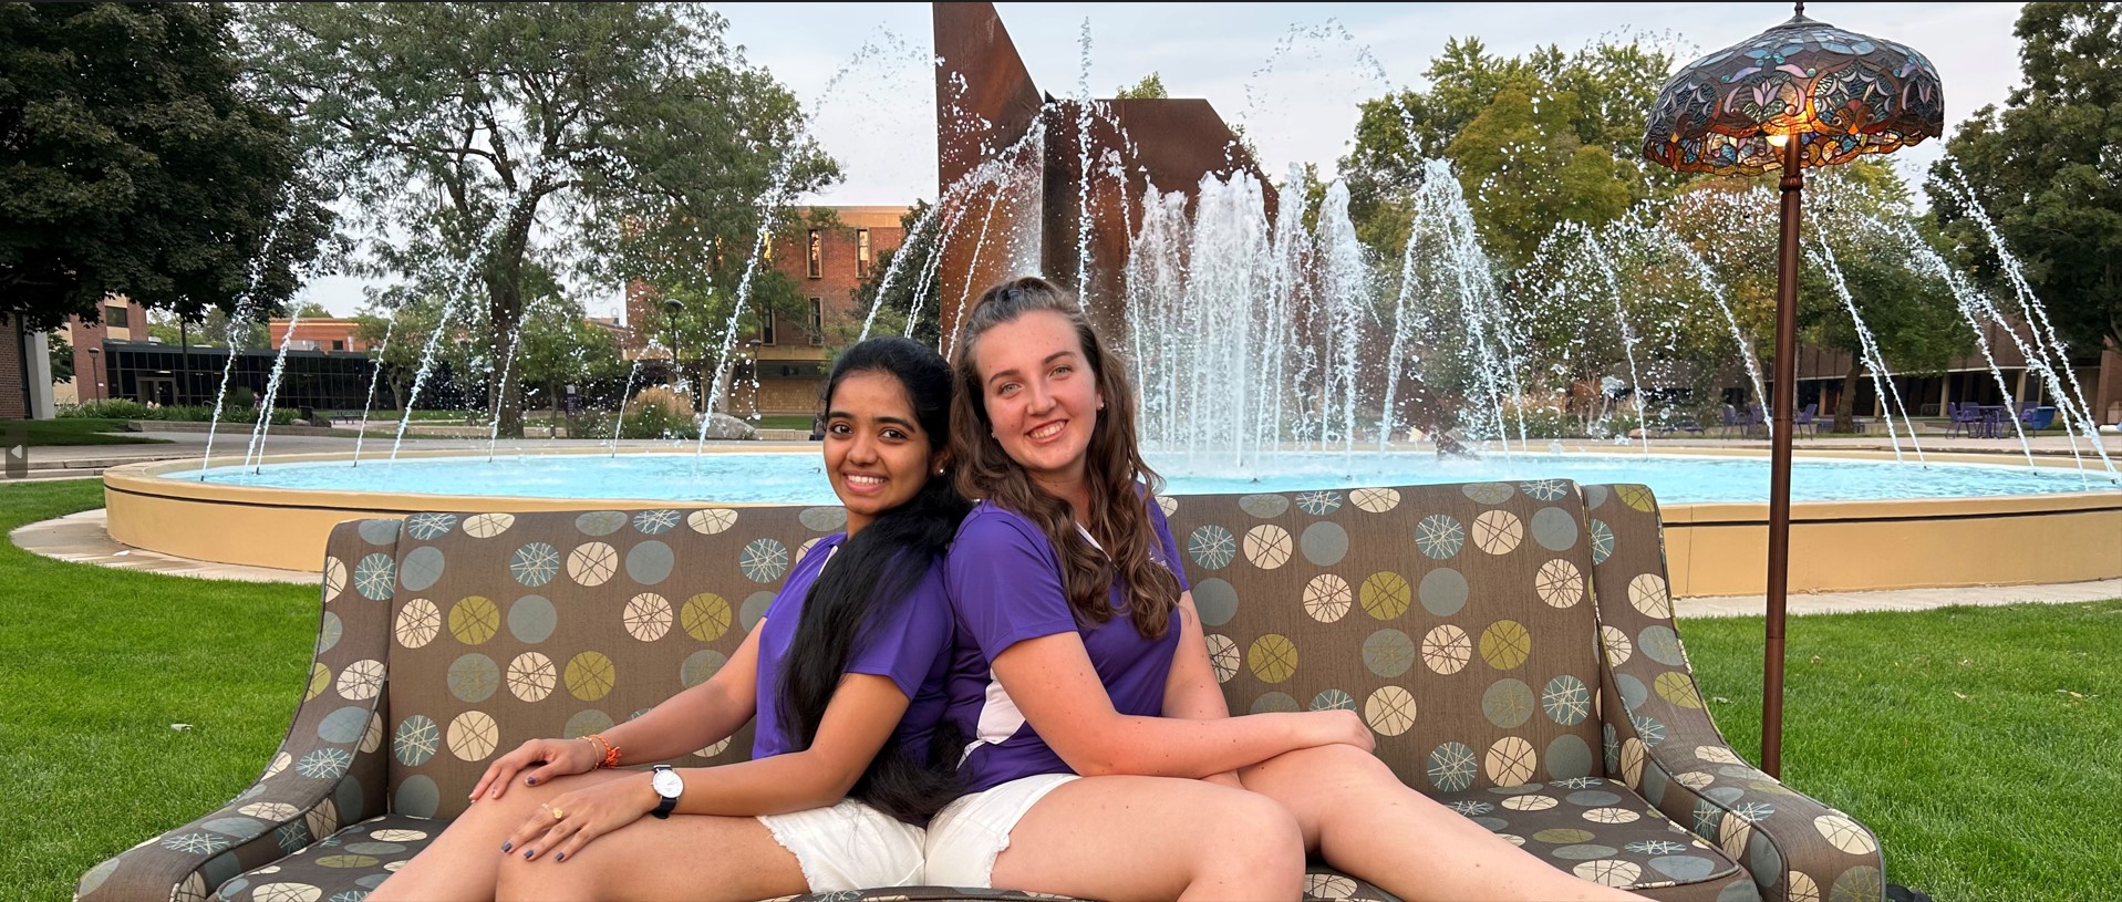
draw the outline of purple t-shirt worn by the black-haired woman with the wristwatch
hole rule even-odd
[[[751,758],[800,751],[781,732],[781,660],[796,641],[796,622],[802,618],[802,603],[811,594],[811,584],[825,569],[832,552],[847,541],[847,533],[834,533],[817,541],[789,571],[787,584],[766,607],[760,624],[760,711],[758,728],[751,734]],[[855,637],[847,654],[847,673],[868,673],[891,677],[900,692],[906,692],[906,715],[891,730],[891,741],[915,756],[927,760],[929,732],[944,709],[944,677],[951,656],[951,601],[942,590],[942,567],[932,567],[912,596],[904,599],[891,618],[870,622],[866,635]]]

